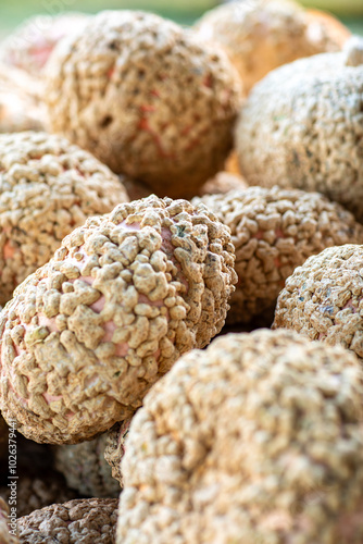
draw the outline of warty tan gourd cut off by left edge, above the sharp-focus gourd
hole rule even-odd
[[[126,201],[117,176],[65,138],[0,135],[0,304],[73,228]]]

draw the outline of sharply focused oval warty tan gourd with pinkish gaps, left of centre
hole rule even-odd
[[[132,416],[224,322],[229,230],[204,205],[120,205],[73,231],[0,314],[4,419],[36,442],[90,440]]]

